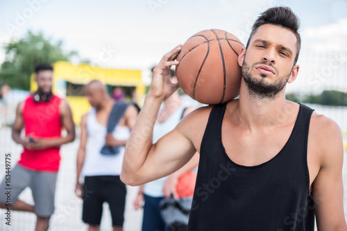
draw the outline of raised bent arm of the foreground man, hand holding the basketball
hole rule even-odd
[[[121,181],[141,185],[167,176],[185,165],[195,153],[192,142],[179,129],[167,133],[153,144],[153,127],[163,100],[178,89],[170,80],[170,67],[180,52],[177,46],[153,70],[149,93],[126,144]]]

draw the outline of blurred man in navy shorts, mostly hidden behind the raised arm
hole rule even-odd
[[[171,80],[177,81],[174,76],[174,71],[171,70]],[[153,143],[157,142],[162,136],[169,133],[176,127],[180,119],[194,111],[194,107],[187,107],[181,100],[178,91],[170,95],[169,98],[164,100],[162,110],[160,110],[157,121],[153,128]],[[169,176],[164,176],[158,180],[151,181],[139,187],[139,192],[134,201],[135,209],[139,209],[144,201],[144,216],[142,221],[142,231],[166,231],[170,230],[168,225],[162,219],[160,214],[160,201],[165,198],[170,198],[171,194],[174,198],[179,199],[176,192],[176,184],[178,178],[191,171],[198,166],[198,154],[177,172]]]

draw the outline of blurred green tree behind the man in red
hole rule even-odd
[[[37,64],[69,61],[71,57],[78,55],[76,51],[65,53],[61,40],[53,43],[43,33],[34,34],[30,30],[22,39],[7,44],[5,51],[6,58],[0,69],[0,84],[6,82],[12,88],[24,90],[30,88],[30,76]]]

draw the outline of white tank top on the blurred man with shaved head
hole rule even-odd
[[[96,109],[92,108],[87,115],[88,139],[82,168],[83,176],[119,176],[121,174],[125,147],[120,147],[117,155],[101,154],[106,133],[106,127],[96,120]],[[117,125],[112,134],[117,140],[128,140],[130,129]]]

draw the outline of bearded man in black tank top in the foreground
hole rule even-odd
[[[319,230],[347,230],[341,131],[285,100],[300,46],[296,15],[266,10],[239,53],[239,100],[197,109],[152,144],[160,104],[178,87],[168,73],[180,46],[164,55],[130,135],[122,181],[138,185],[171,174],[198,151],[189,230],[314,230],[314,214]]]

